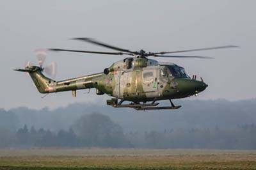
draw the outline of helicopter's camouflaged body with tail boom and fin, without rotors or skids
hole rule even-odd
[[[40,93],[56,93],[95,88],[97,95],[107,94],[132,102],[184,98],[204,91],[207,84],[191,79],[184,68],[147,58],[125,58],[102,73],[64,81],[54,81],[31,66],[30,75]],[[74,93],[73,93],[74,94]]]

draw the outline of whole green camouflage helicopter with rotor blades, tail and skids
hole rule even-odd
[[[68,50],[68,49],[49,49],[52,51],[83,52],[90,54],[109,54],[132,56],[113,63],[105,68],[103,72],[76,77],[64,81],[54,81],[43,74],[45,68],[42,66],[44,59],[39,59],[39,66],[27,65],[24,69],[15,69],[19,72],[28,72],[36,88],[40,93],[57,93],[60,91],[72,91],[76,97],[78,89],[96,89],[97,95],[107,94],[111,97],[107,100],[108,105],[113,107],[130,107],[136,110],[154,109],[179,109],[175,106],[172,99],[185,98],[197,95],[207,88],[207,84],[200,77],[196,80],[196,75],[189,77],[182,66],[174,63],[159,63],[149,57],[162,58],[202,58],[204,56],[170,56],[178,52],[193,52],[199,50],[213,50],[237,47],[226,45],[220,47],[210,47],[191,50],[176,50],[170,52],[145,52],[145,50],[132,51],[98,42],[92,38],[72,38],[83,42],[93,43],[101,47],[117,50],[118,52],[100,52],[89,50]],[[49,72],[49,71],[48,71]],[[157,107],[159,100],[170,100],[170,106]],[[131,102],[123,104],[123,102]]]

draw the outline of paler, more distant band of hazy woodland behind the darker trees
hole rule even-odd
[[[105,104],[75,103],[56,109],[13,108],[0,109],[0,127],[17,128],[34,126],[36,129],[51,129],[58,132],[68,129],[84,114],[100,112],[118,122],[124,132],[145,132],[177,128],[236,128],[237,125],[256,123],[256,98],[230,102],[227,100],[174,100],[182,105],[177,110],[136,111],[116,109]],[[162,102],[161,105],[170,105]]]

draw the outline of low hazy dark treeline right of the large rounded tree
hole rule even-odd
[[[256,125],[237,125],[236,128],[171,129],[126,135],[137,148],[191,148],[221,150],[255,150]]]

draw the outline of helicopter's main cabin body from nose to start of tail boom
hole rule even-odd
[[[97,88],[110,96],[132,102],[184,98],[203,91],[207,84],[191,79],[184,68],[153,59],[126,58],[95,77]]]

